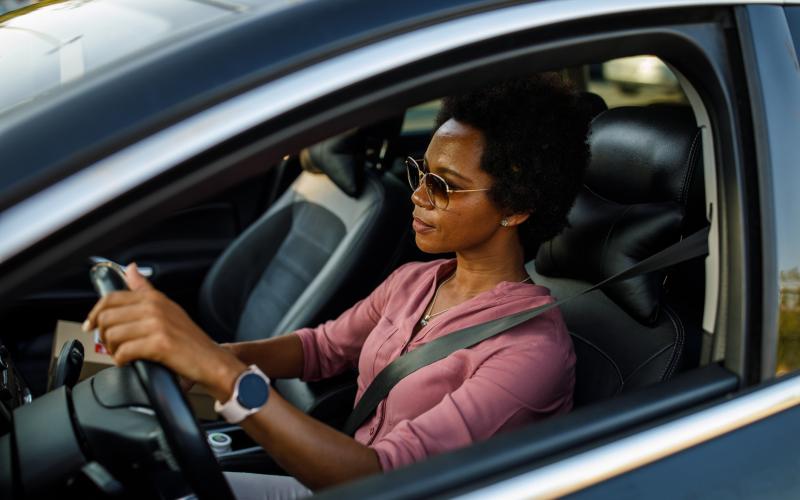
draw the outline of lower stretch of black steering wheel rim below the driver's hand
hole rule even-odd
[[[133,367],[178,467],[197,498],[235,500],[172,372],[152,361],[134,361]]]

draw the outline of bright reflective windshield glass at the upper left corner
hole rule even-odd
[[[0,114],[239,10],[193,0],[45,1],[0,16]]]

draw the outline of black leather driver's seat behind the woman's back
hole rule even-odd
[[[568,297],[707,224],[700,130],[690,109],[597,116],[570,226],[541,245],[534,280]],[[534,269],[535,268],[535,269]],[[580,406],[670,378],[699,359],[702,259],[595,291],[562,307]]]

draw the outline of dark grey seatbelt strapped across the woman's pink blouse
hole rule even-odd
[[[389,391],[404,377],[423,368],[433,362],[444,359],[459,349],[466,349],[482,342],[490,337],[513,328],[520,323],[558,307],[570,300],[574,300],[589,292],[604,286],[623,281],[641,274],[658,271],[696,257],[708,254],[708,233],[709,228],[705,227],[700,231],[682,239],[681,241],[668,246],[660,252],[651,255],[643,261],[635,264],[622,272],[619,272],[603,281],[592,285],[566,299],[562,299],[551,304],[534,307],[526,311],[510,314],[501,318],[486,321],[478,325],[469,326],[444,337],[432,340],[427,344],[403,354],[399,358],[389,363],[372,383],[364,391],[353,412],[347,418],[344,425],[344,432],[353,435],[355,431],[372,415],[381,401],[389,395]]]

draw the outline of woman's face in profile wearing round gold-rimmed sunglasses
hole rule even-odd
[[[451,189],[490,188],[492,177],[480,167],[483,149],[480,130],[451,119],[433,135],[425,152],[425,164]],[[414,191],[411,200],[416,242],[423,252],[479,250],[502,228],[503,215],[487,191],[450,193],[446,209],[435,208],[422,186]]]

